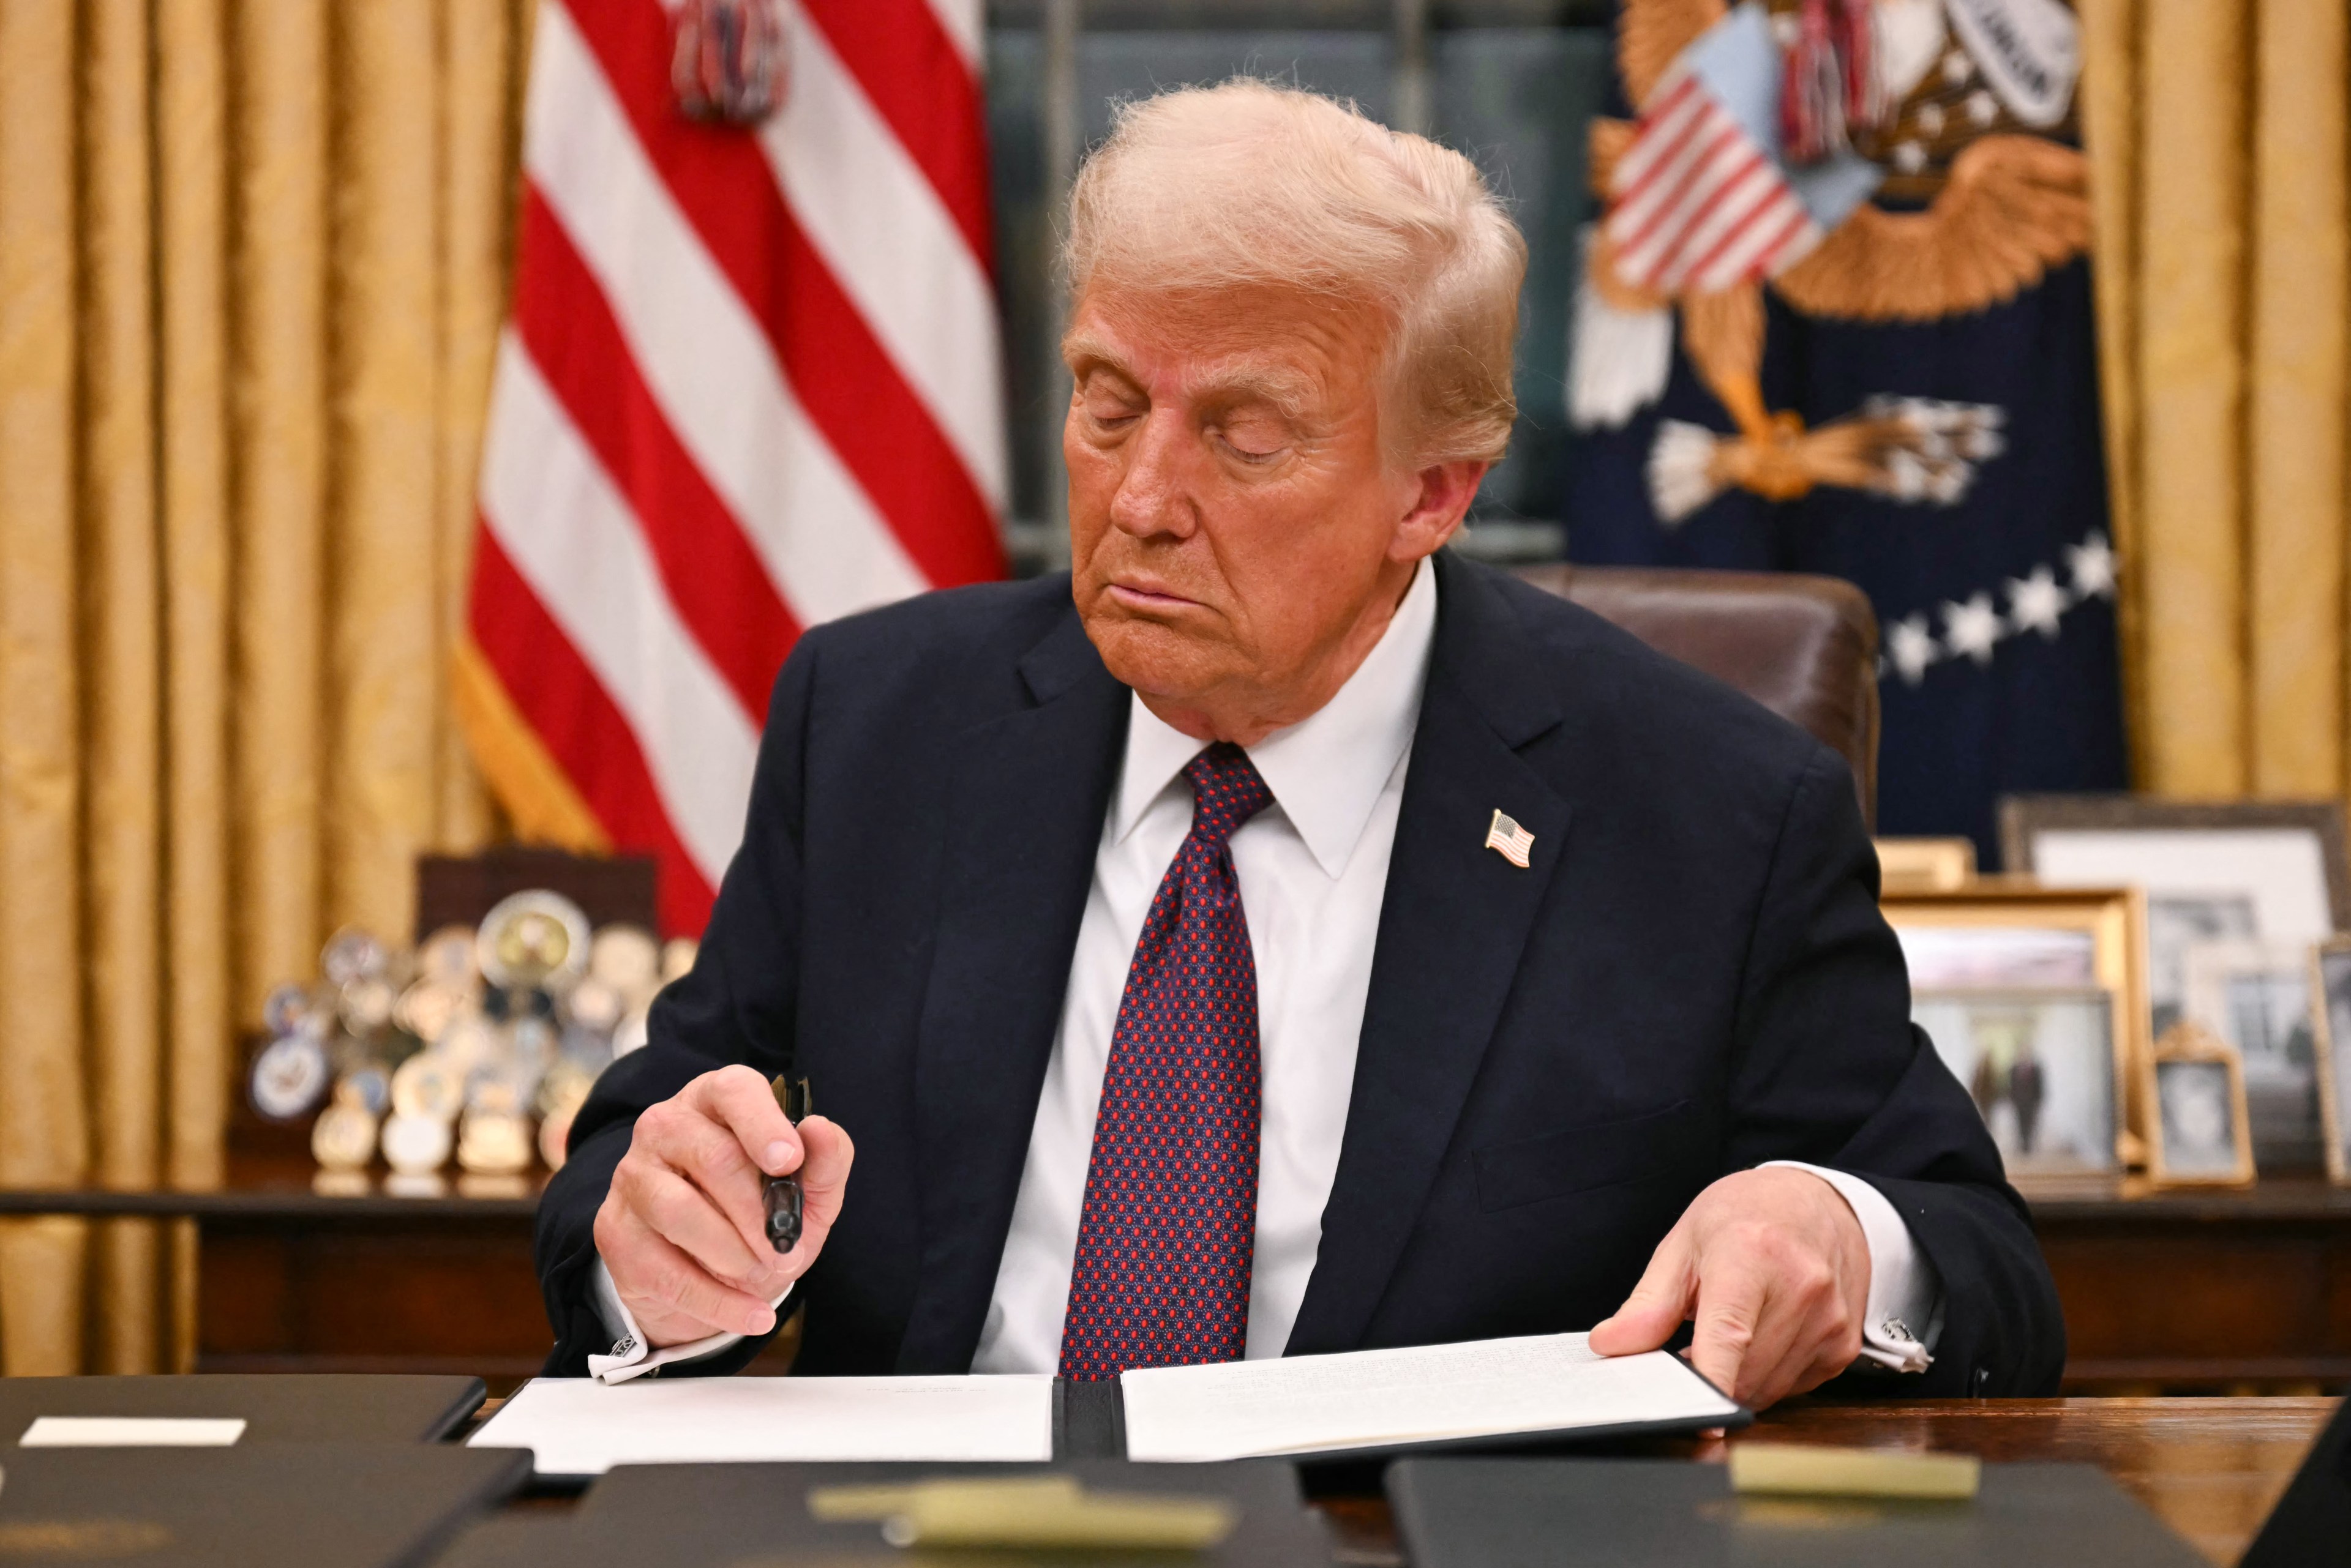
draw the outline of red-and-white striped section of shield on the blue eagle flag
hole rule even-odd
[[[1787,176],[1697,73],[1660,87],[1610,179],[1622,282],[1714,294],[1794,266],[1820,240]]]

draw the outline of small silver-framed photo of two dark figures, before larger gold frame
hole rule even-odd
[[[2010,1178],[2123,1171],[2106,992],[1914,990],[1911,1020],[1984,1114]]]

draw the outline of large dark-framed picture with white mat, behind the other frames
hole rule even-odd
[[[2198,943],[2323,943],[2351,931],[2342,802],[2179,804],[2135,795],[2012,795],[2001,856],[2043,886],[2146,893],[2146,983],[2156,1034],[2186,1006]]]

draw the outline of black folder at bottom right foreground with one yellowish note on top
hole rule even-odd
[[[1972,1502],[1737,1497],[1723,1465],[1401,1460],[1415,1568],[2201,1568],[2090,1465],[1984,1465]]]

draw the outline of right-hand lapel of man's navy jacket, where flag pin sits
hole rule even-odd
[[[1566,851],[1568,802],[1519,757],[1559,724],[1545,661],[1476,571],[1441,555],[1436,585],[1347,1133],[1288,1354],[1361,1342]],[[1526,870],[1483,846],[1498,809],[1535,835]]]

